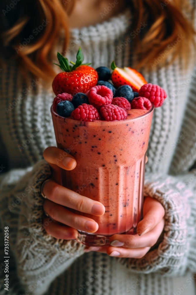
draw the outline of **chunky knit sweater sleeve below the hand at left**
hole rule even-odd
[[[75,240],[59,240],[44,230],[47,224],[42,221],[44,199],[40,191],[50,174],[49,165],[42,160],[33,168],[12,170],[1,176],[1,224],[3,231],[9,226],[10,259],[15,260],[21,288],[37,295],[44,294],[84,249]],[[49,222],[48,217],[46,223]],[[10,279],[10,286],[14,286],[16,279],[13,275]],[[2,277],[2,283],[3,280]]]

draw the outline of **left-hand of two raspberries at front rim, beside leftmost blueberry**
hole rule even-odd
[[[93,122],[94,120],[100,120],[98,110],[91,106],[90,104],[82,104],[78,106],[72,113],[71,118],[84,121]]]

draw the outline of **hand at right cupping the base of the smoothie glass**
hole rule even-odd
[[[155,199],[145,197],[143,219],[138,223],[136,235],[113,235],[110,246],[88,247],[85,252],[96,251],[123,258],[142,258],[153,247],[164,228],[165,210]]]

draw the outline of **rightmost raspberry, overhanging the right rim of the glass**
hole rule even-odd
[[[160,86],[148,83],[140,88],[139,96],[148,98],[153,102],[155,108],[158,108],[159,106],[162,106],[167,94]]]

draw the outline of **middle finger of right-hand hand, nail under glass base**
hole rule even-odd
[[[153,247],[163,232],[165,221],[161,220],[150,232],[142,235],[113,235],[110,238],[110,245],[123,248],[145,248]]]

